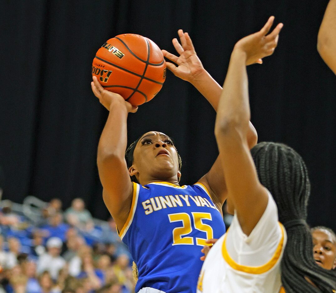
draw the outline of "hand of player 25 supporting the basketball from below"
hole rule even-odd
[[[96,76],[92,76],[92,80],[93,80],[93,82],[91,82],[92,92],[99,99],[99,102],[109,111],[111,103],[114,101],[125,103],[128,112],[135,113],[138,110],[138,106],[132,106],[129,102],[126,102],[121,95],[105,90],[98,82]]]

